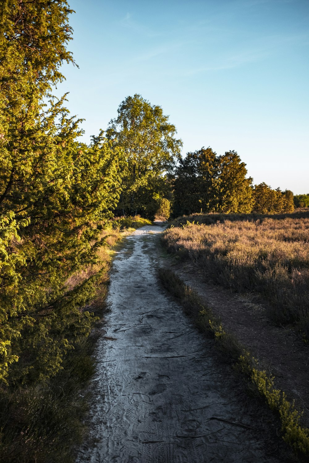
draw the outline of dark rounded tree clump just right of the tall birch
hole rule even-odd
[[[174,216],[190,213],[249,213],[252,178],[235,151],[217,156],[202,148],[180,160],[174,187]]]

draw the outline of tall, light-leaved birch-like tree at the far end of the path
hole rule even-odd
[[[118,117],[107,130],[113,149],[124,153],[119,214],[154,217],[160,200],[169,193],[166,173],[180,154],[182,142],[175,134],[160,106],[138,94],[121,102]]]

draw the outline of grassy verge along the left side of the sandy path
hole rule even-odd
[[[106,311],[105,296],[113,247],[128,231],[150,223],[140,217],[117,218],[101,232],[97,262],[72,275],[70,291],[96,277],[92,298],[80,310],[91,314],[92,331],[70,346],[56,375],[44,381],[25,382],[0,388],[0,461],[7,463],[73,463],[72,447],[85,432],[87,412],[85,387],[95,371],[92,357],[96,327]]]

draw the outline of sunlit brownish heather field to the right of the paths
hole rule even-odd
[[[309,210],[195,214],[175,220],[163,241],[212,282],[261,295],[274,321],[295,325],[308,341]]]

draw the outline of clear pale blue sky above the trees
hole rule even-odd
[[[309,0],[69,0],[79,69],[64,65],[84,141],[128,95],[183,140],[235,150],[255,184],[309,193]]]

